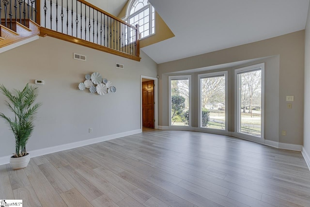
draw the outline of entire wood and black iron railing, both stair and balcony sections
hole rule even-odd
[[[139,25],[134,27],[85,0],[0,0],[0,16],[1,24],[11,30],[14,21],[27,26],[26,19],[31,19],[41,26],[41,36],[140,61]]]

